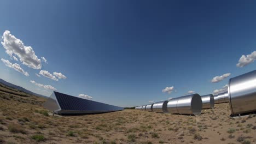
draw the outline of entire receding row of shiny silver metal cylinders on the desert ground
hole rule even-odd
[[[190,94],[153,104],[137,106],[136,110],[200,115],[202,109],[214,109],[214,104],[229,103],[232,115],[256,111],[256,70],[229,79],[228,92],[218,95]]]

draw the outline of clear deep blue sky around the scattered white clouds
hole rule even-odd
[[[1,36],[9,31],[31,46],[41,67],[31,68],[13,53],[15,61],[2,44],[0,58],[29,76],[0,61],[0,78],[39,94],[50,95],[44,87],[50,85],[118,106],[188,91],[213,93],[230,77],[255,69],[255,53],[250,55],[256,48],[255,6],[255,1],[2,1]],[[250,61],[237,67],[242,55]],[[162,92],[172,86],[172,92]]]

